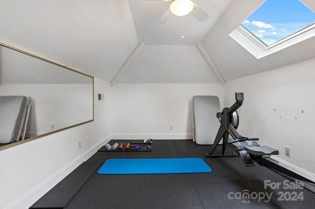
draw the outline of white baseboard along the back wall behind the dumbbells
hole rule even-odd
[[[112,133],[111,139],[192,139],[192,133]]]

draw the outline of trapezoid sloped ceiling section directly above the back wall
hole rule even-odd
[[[118,83],[220,83],[196,46],[144,45]]]

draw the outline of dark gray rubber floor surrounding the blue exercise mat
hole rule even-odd
[[[132,140],[112,140],[132,142]],[[140,142],[140,141],[139,141]],[[66,204],[65,209],[313,209],[315,194],[306,189],[264,188],[264,181],[286,179],[255,165],[245,167],[237,157],[204,157],[211,145],[191,140],[154,140],[152,152],[97,152],[87,162],[108,158],[201,157],[212,173],[98,175],[91,177]],[[221,146],[215,154],[221,153]],[[225,153],[235,151],[228,145]],[[73,173],[79,172],[78,169]],[[58,185],[57,185],[58,186]],[[249,198],[246,193],[252,195]],[[265,195],[256,198],[256,195]],[[281,198],[281,195],[284,197]],[[303,201],[301,200],[301,194]],[[52,199],[61,198],[54,194]],[[271,198],[267,198],[269,195]],[[300,195],[300,196],[297,196]],[[299,197],[294,200],[294,196]],[[241,197],[241,198],[239,198]],[[293,198],[293,199],[292,199]]]

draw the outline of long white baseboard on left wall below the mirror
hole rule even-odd
[[[77,168],[81,163],[92,157],[99,148],[104,146],[110,141],[110,136],[106,136],[99,142],[97,142],[93,147],[82,153],[80,156],[73,159],[59,171],[45,179],[43,182],[36,185],[25,195],[17,199],[15,202],[10,204],[8,209],[26,209],[31,207],[40,197],[46,194],[51,188],[53,188],[57,183],[62,181],[68,174],[70,174],[75,168]]]

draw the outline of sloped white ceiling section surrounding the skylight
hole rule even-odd
[[[226,81],[315,58],[315,37],[257,59],[229,36],[263,2],[234,0],[202,42]]]

